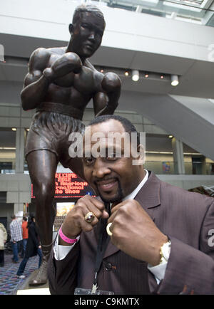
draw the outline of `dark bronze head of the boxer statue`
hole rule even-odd
[[[91,57],[101,46],[105,26],[103,13],[96,6],[78,6],[69,25],[71,50],[80,57]]]

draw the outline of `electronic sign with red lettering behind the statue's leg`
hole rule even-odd
[[[93,190],[88,182],[74,173],[56,173],[55,175],[55,199],[81,198],[89,194],[94,196]],[[31,184],[31,199],[35,199],[34,186]]]

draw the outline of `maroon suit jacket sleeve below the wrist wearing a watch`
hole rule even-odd
[[[214,243],[208,233],[214,226],[214,202],[200,229],[198,247],[170,237],[171,251],[160,294],[214,294]]]

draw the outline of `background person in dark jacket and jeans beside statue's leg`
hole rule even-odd
[[[21,279],[25,278],[23,273],[26,268],[26,263],[27,261],[29,261],[29,258],[31,258],[31,256],[36,256],[38,254],[39,255],[39,267],[41,266],[42,251],[41,251],[41,244],[39,242],[39,236],[38,236],[38,231],[36,229],[35,221],[36,221],[35,216],[34,214],[32,214],[27,224],[27,228],[29,231],[29,238],[27,239],[27,243],[26,243],[26,251],[24,254],[24,258],[21,261],[19,265],[19,269],[16,273],[17,278],[21,278]]]

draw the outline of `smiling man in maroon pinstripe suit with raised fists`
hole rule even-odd
[[[97,132],[103,136],[97,149],[102,154],[111,149],[108,155],[94,155]],[[109,132],[131,135],[136,129],[113,115],[97,117],[87,127],[83,171],[101,199],[83,197],[66,216],[49,259],[51,293],[93,286],[93,293],[214,294],[214,199],[161,182],[143,164],[133,165],[133,152],[124,155],[131,141],[119,145]],[[142,158],[138,151],[135,159]],[[97,251],[102,253],[98,268]]]

